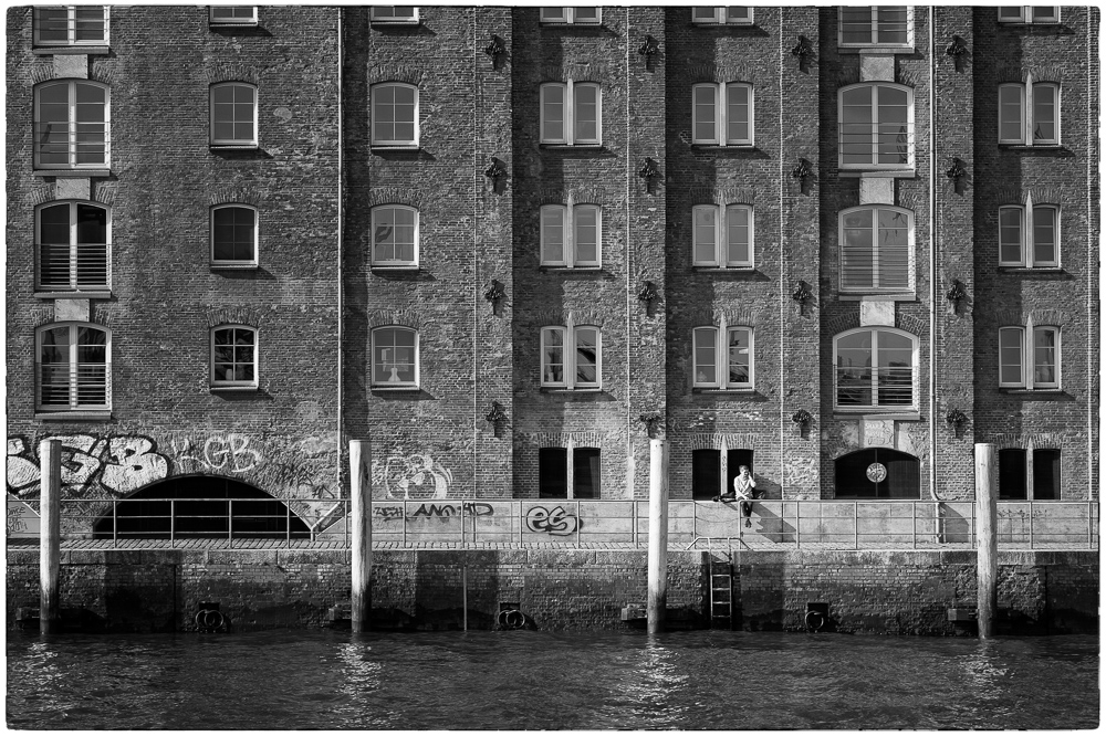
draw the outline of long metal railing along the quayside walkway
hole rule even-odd
[[[12,504],[22,502],[9,501]],[[36,507],[34,502],[28,505]],[[62,535],[94,546],[325,546],[347,548],[348,500],[174,498],[62,502]],[[9,512],[9,519],[12,518]],[[668,539],[686,549],[972,549],[971,501],[669,503]],[[1003,549],[1097,549],[1097,501],[1001,502]],[[373,503],[373,539],[403,547],[641,548],[647,501],[427,500]],[[11,529],[9,528],[9,535]]]

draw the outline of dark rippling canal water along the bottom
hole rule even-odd
[[[8,634],[11,728],[1095,728],[1096,637]]]

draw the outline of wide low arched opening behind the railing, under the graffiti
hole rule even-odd
[[[252,485],[185,475],[149,485],[115,504],[93,529],[97,539],[303,539],[307,525],[288,505]]]

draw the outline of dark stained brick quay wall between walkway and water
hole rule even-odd
[[[1002,551],[1000,633],[1096,633],[1097,551]],[[645,550],[380,550],[374,554],[374,627],[492,629],[503,609],[526,625],[629,628],[646,599]],[[729,574],[732,627],[803,631],[810,603],[828,606],[827,631],[973,635],[948,609],[974,609],[972,551],[670,551],[670,628],[711,625],[711,574]],[[39,550],[8,550],[8,627],[39,604]],[[724,587],[724,578],[718,579]],[[219,603],[233,631],[315,628],[349,600],[345,550],[69,550],[62,608],[87,630],[188,631],[200,603]],[[337,618],[342,618],[341,616]],[[726,621],[716,621],[729,628]]]

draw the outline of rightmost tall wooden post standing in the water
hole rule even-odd
[[[995,536],[999,467],[995,445],[975,444],[975,579],[979,638],[991,637],[999,608],[999,544]]]

